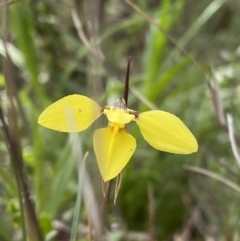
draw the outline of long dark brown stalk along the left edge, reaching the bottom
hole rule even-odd
[[[22,156],[19,128],[18,128],[18,112],[15,106],[15,99],[17,96],[16,81],[14,79],[13,65],[10,60],[8,49],[7,49],[7,37],[9,36],[9,15],[6,4],[3,8],[2,22],[3,22],[3,43],[6,53],[6,58],[3,61],[3,72],[5,75],[7,97],[9,101],[9,107],[7,109],[7,117],[9,123],[5,122],[5,112],[2,109],[0,103],[0,119],[2,122],[2,129],[5,135],[6,145],[11,157],[11,164],[14,169],[16,182],[18,185],[18,197],[21,209],[21,221],[22,221],[22,232],[23,239],[26,240],[26,228],[27,235],[30,240],[42,241],[42,234],[39,229],[37,216],[34,210],[32,201],[30,200],[30,192],[27,185],[27,177],[25,175],[24,160]],[[24,211],[23,211],[24,210]],[[26,228],[25,228],[26,218]]]

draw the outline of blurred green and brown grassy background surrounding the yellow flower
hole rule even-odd
[[[235,0],[1,1],[0,240],[240,240],[239,12]],[[114,103],[128,56],[129,107],[176,114],[199,151],[156,151],[130,124],[114,205],[92,147],[106,120],[74,136],[37,118],[73,93]]]

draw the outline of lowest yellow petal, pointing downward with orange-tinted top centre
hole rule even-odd
[[[129,162],[136,148],[136,140],[124,128],[108,126],[96,130],[93,146],[103,180],[116,177]]]

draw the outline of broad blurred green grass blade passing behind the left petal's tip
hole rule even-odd
[[[14,6],[10,8],[11,13],[11,24],[12,30],[15,35],[16,42],[18,44],[19,49],[22,51],[24,55],[24,70],[27,71],[27,76],[29,81],[29,85],[33,88],[34,93],[36,95],[35,100],[39,105],[42,105],[45,102],[45,94],[43,91],[43,87],[38,81],[39,77],[39,68],[38,68],[38,60],[36,56],[36,48],[34,43],[34,19],[30,10],[30,1],[21,1],[16,3]],[[29,88],[26,88],[29,89]],[[29,101],[32,102],[32,101]],[[34,109],[34,108],[33,108]],[[36,127],[36,117],[31,118],[32,122],[32,140],[35,151],[35,168],[34,168],[34,184],[35,184],[35,194],[37,200],[37,210],[42,210],[44,196],[42,192],[43,185],[43,162],[41,157],[41,138],[39,138],[38,128]]]

